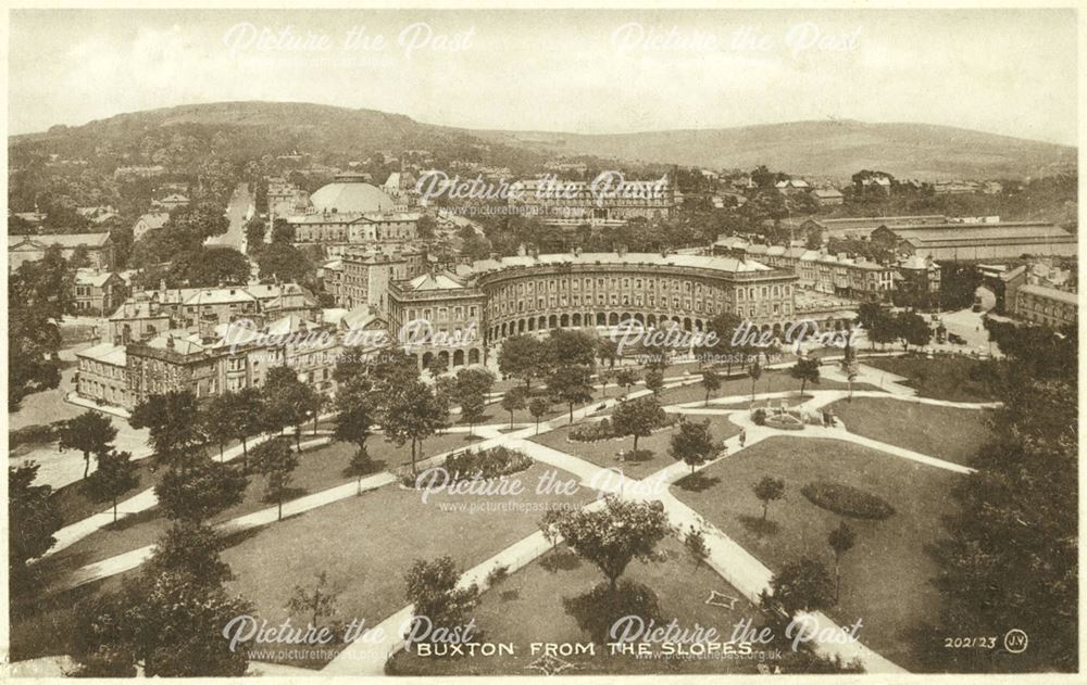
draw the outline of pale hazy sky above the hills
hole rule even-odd
[[[139,11],[10,15],[9,131],[315,102],[582,134],[794,120],[1077,142],[1071,10]]]

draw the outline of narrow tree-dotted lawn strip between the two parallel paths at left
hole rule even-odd
[[[305,436],[303,436],[304,440]],[[434,456],[442,452],[460,449],[478,440],[478,437],[470,440],[465,433],[447,433],[430,437],[424,443],[424,448],[426,456]],[[291,491],[285,500],[296,499],[353,480],[352,477],[343,474],[343,469],[347,468],[348,461],[357,449],[358,447],[352,443],[332,443],[303,451],[302,458],[291,478]],[[398,447],[386,442],[379,435],[370,439],[366,449],[374,460],[375,472],[395,469],[411,462],[411,447],[409,445]],[[214,517],[210,523],[228,521],[274,506],[274,502],[265,500],[264,482],[263,477],[251,474],[249,487],[246,489],[242,500]],[[40,563],[42,569],[47,569],[47,572],[52,575],[64,573],[88,563],[151,545],[168,528],[170,521],[162,516],[158,507],[153,507],[138,515],[121,519],[115,527],[110,525],[96,531],[72,546],[43,559]]]

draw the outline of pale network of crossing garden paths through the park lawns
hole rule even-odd
[[[827,378],[837,380],[833,372],[828,373]],[[698,383],[700,377],[694,373],[669,378],[661,392],[663,394],[667,393],[670,390],[692,385]],[[862,365],[861,373],[857,379],[857,382],[882,385],[884,390],[857,390],[850,392],[846,390],[809,389],[805,391],[802,402],[800,404],[794,404],[789,408],[792,411],[799,411],[801,414],[809,411],[819,413],[833,403],[846,399],[850,396],[853,399],[873,397],[882,399],[889,398],[904,404],[915,403],[953,409],[982,410],[999,406],[998,403],[958,403],[917,397],[912,389],[900,384],[898,382],[899,380],[901,379],[898,377],[884,375],[875,369],[872,369],[871,367]],[[595,415],[613,408],[621,401],[629,401],[650,394],[651,392],[649,390],[637,389],[628,392],[622,399],[616,397],[595,399],[588,405],[574,410],[573,422],[577,423],[585,420],[595,420]],[[804,430],[799,431],[780,430],[769,426],[755,424],[750,418],[750,413],[747,410],[750,406],[749,403],[752,402],[766,403],[772,406],[774,401],[795,398],[796,396],[796,391],[755,393],[753,395],[746,393],[715,397],[710,399],[708,403],[698,401],[665,405],[664,409],[670,414],[692,415],[692,418],[698,416],[707,416],[708,418],[720,416],[741,429],[741,432],[723,441],[722,456],[716,459],[696,466],[694,469],[682,461],[677,461],[640,479],[635,479],[623,473],[621,469],[616,468],[617,466],[621,466],[619,464],[616,464],[616,467],[602,467],[575,454],[544,445],[532,440],[537,434],[542,435],[566,427],[569,419],[565,413],[562,413],[550,420],[541,421],[539,423],[538,431],[535,424],[524,423],[514,424],[514,428],[510,430],[510,424],[502,421],[475,426],[471,430],[480,440],[465,448],[470,451],[479,451],[504,446],[507,448],[516,449],[523,452],[538,462],[573,474],[582,485],[591,487],[598,493],[619,494],[623,497],[636,500],[660,502],[664,507],[664,511],[667,515],[671,524],[675,527],[676,531],[686,531],[694,527],[695,529],[699,529],[703,532],[705,547],[708,550],[708,566],[722,579],[739,591],[747,599],[758,604],[760,594],[770,587],[770,581],[773,576],[773,572],[760,562],[750,551],[729,537],[725,532],[714,527],[701,515],[699,515],[698,511],[676,498],[670,490],[671,485],[690,475],[692,472],[698,473],[710,466],[721,464],[722,459],[740,458],[742,457],[745,451],[751,449],[754,445],[758,445],[759,443],[762,443],[771,437],[789,437],[799,440],[829,439],[850,442],[861,447],[877,451],[886,455],[888,459],[905,459],[925,467],[942,469],[962,475],[969,475],[973,472],[973,469],[959,464],[907,449],[897,445],[875,441],[850,432],[849,428],[840,420],[836,421],[836,426],[834,427],[807,426]],[[448,429],[446,432],[460,433],[467,432],[468,430],[470,429],[467,427],[458,426]],[[267,436],[263,436],[263,440],[266,439]],[[261,440],[262,439],[251,441],[250,447],[253,444],[259,443]],[[330,439],[327,435],[316,436],[303,442],[302,447],[303,449],[312,449],[324,446],[328,444],[329,441]],[[462,451],[463,449],[458,449],[437,454],[420,461],[418,468],[424,470],[430,467],[440,466],[450,454]],[[229,460],[240,456],[240,447],[228,449],[225,453],[224,458]],[[392,473],[385,471],[362,479],[361,485],[357,484],[354,481],[348,481],[341,485],[336,485],[334,487],[285,502],[283,505],[283,518],[284,520],[287,520],[291,517],[304,515],[305,512],[318,507],[324,507],[326,505],[343,500],[348,497],[358,496],[360,487],[362,496],[365,497],[366,493],[373,492],[377,489],[390,485],[395,486],[393,484],[396,483],[396,480],[397,479]],[[602,496],[598,496],[587,504],[586,507],[595,508],[602,506]],[[148,490],[121,503],[118,505],[118,515],[134,516],[138,512],[148,511],[155,505],[157,499],[154,497],[154,493],[153,491]],[[97,513],[65,527],[55,534],[58,543],[48,554],[52,555],[60,549],[71,546],[79,540],[96,533],[112,522],[112,520],[113,513],[111,510]],[[278,516],[276,507],[272,506],[222,522],[217,528],[223,532],[235,533],[266,525],[274,525],[277,520]],[[465,585],[476,583],[480,589],[486,589],[489,584],[488,573],[495,568],[507,567],[508,572],[513,573],[536,560],[551,548],[552,543],[545,540],[542,533],[533,533],[532,535],[515,542],[504,549],[499,550],[482,563],[466,570],[461,578],[461,583]],[[63,578],[59,578],[53,581],[50,585],[50,592],[68,589],[109,578],[117,573],[129,571],[146,562],[151,557],[153,551],[154,546],[148,545],[84,566],[74,571],[70,571]],[[403,647],[403,638],[401,637],[403,635],[402,627],[411,619],[411,606],[403,607],[402,609],[393,612],[375,626],[374,634],[379,635],[379,639],[359,640],[349,644],[338,657],[327,663],[327,665],[323,669],[323,673],[329,675],[342,674],[357,676],[383,674],[387,658]],[[816,630],[820,635],[829,635],[834,633],[834,631],[838,630],[834,621],[822,612],[807,614],[803,617],[803,621],[807,625]],[[383,630],[377,631],[376,627],[380,627]],[[865,670],[870,673],[894,673],[904,671],[901,667],[898,667],[891,661],[872,651],[855,639],[849,642],[816,640],[814,644],[816,646],[816,650],[822,655],[839,656],[844,661],[859,659],[863,663]],[[258,662],[254,662],[251,665],[251,672],[253,673],[271,675],[279,672],[287,673],[288,671],[296,673],[297,669],[280,669],[280,667],[276,664]]]

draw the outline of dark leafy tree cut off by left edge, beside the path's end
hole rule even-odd
[[[26,562],[46,554],[57,542],[53,533],[63,524],[60,505],[49,485],[34,485],[38,465],[34,461],[8,467],[8,563],[14,594],[29,589]]]

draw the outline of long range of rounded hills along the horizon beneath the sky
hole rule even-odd
[[[220,102],[121,114],[13,137],[10,145],[16,153],[35,148],[100,157],[104,151],[127,153],[125,158],[130,158],[138,156],[132,153],[141,139],[159,142],[177,135],[205,143],[197,148],[216,147],[217,135],[220,142],[232,143],[225,156],[237,160],[292,150],[336,161],[376,150],[430,149],[440,156],[485,161],[514,172],[545,157],[587,155],[711,168],[765,164],[829,178],[848,178],[870,168],[935,180],[1039,176],[1074,167],[1076,162],[1075,148],[927,124],[825,120],[578,135],[458,129],[374,110],[292,102]]]

